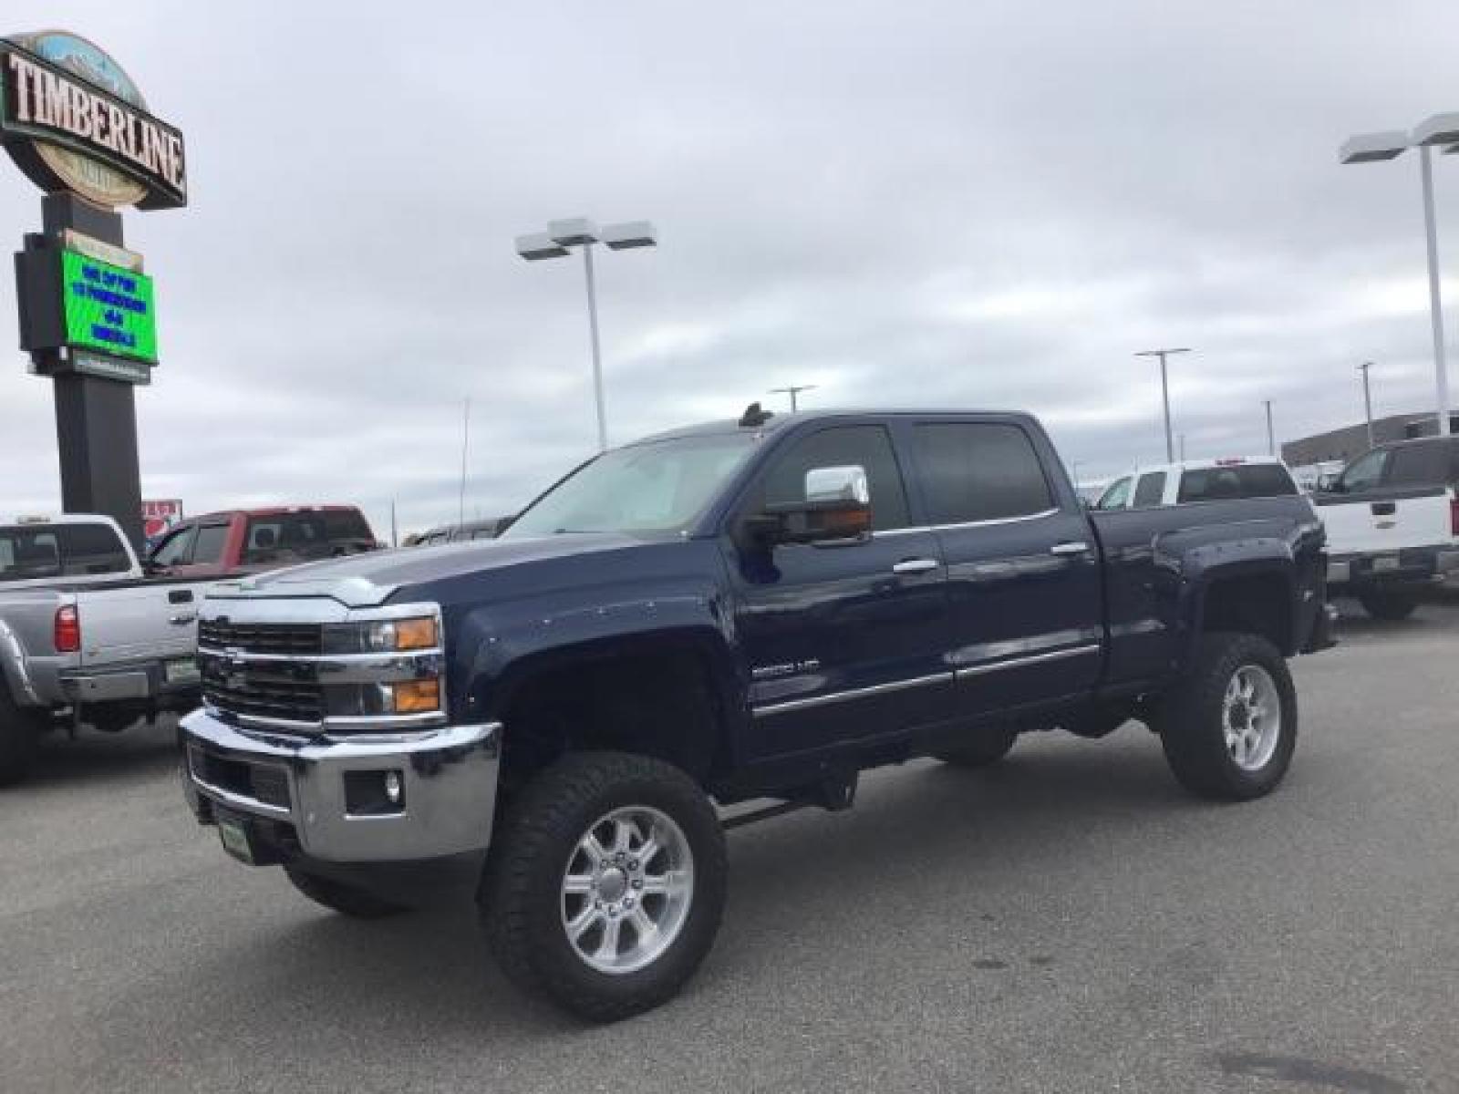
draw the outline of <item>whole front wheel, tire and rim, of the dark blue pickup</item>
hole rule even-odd
[[[673,998],[709,953],[724,831],[677,767],[579,753],[538,775],[493,837],[480,903],[508,977],[589,1021]]]

